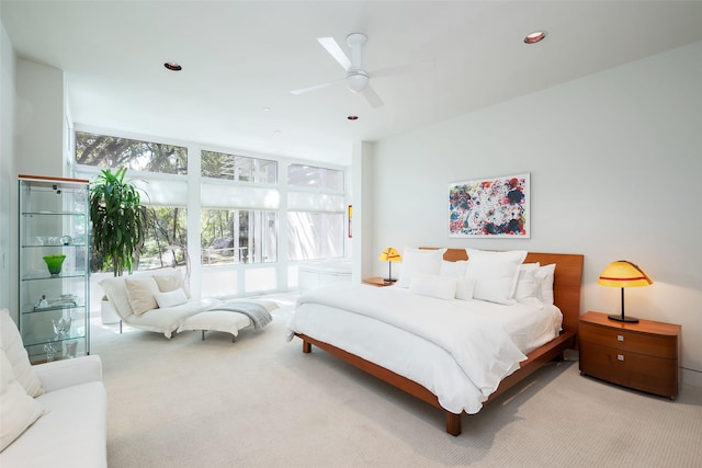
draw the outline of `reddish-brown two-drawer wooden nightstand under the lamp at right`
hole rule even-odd
[[[665,397],[678,396],[678,324],[624,323],[607,313],[580,316],[580,374]]]

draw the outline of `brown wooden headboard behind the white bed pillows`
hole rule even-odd
[[[468,254],[465,249],[448,249],[443,258],[444,260],[456,262],[458,260],[467,260]],[[554,304],[563,312],[564,330],[576,334],[578,333],[578,319],[580,317],[582,259],[582,255],[577,253],[529,252],[524,260],[524,263],[539,262],[542,266],[551,263],[556,264],[553,282]]]

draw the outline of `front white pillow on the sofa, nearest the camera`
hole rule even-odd
[[[0,351],[0,452],[12,444],[42,414],[44,408],[26,395],[14,377],[12,363],[4,351]]]

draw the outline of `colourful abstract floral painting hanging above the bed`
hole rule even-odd
[[[531,238],[531,174],[449,184],[450,238]]]

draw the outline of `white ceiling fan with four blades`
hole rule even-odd
[[[341,65],[346,70],[347,76],[343,79],[347,83],[347,88],[354,93],[361,93],[367,101],[371,107],[380,107],[383,105],[383,100],[375,93],[373,88],[369,84],[372,77],[386,77],[389,75],[397,75],[401,72],[410,71],[412,66],[400,66],[388,68],[384,70],[377,70],[369,72],[363,68],[363,45],[366,43],[367,37],[362,33],[352,33],[347,36],[347,44],[351,49],[351,58],[341,49],[337,41],[333,37],[317,37],[317,41],[327,52],[333,57],[335,60]],[[330,81],[327,83],[315,84],[313,87],[301,88],[291,91],[293,94],[304,94],[310,91],[316,91],[321,88],[330,87],[338,81]]]

